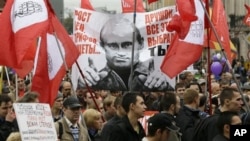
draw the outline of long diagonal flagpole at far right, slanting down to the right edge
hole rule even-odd
[[[210,25],[210,27],[211,27],[211,29],[212,29],[212,31],[213,31],[215,37],[216,37],[216,40],[217,40],[218,43],[219,43],[220,52],[221,52],[221,54],[223,55],[223,57],[225,57],[226,63],[227,63],[227,65],[228,65],[228,67],[229,67],[229,70],[232,70],[232,66],[231,66],[230,62],[228,61],[228,58],[227,58],[227,56],[226,56],[226,54],[225,54],[225,52],[224,52],[224,47],[222,46],[221,40],[219,39],[219,35],[218,35],[217,31],[215,30],[215,27],[214,27],[212,21],[210,20],[210,16],[209,16],[208,12],[206,11],[206,8],[205,8],[204,5],[203,5],[203,0],[200,0],[200,3],[201,3],[201,5],[202,5],[202,8],[203,8],[204,11],[205,11],[207,20],[208,20],[209,25]],[[209,44],[209,43],[208,43],[208,44]],[[242,90],[241,90],[241,88],[240,88],[240,84],[239,84],[239,82],[237,81],[236,76],[235,76],[235,73],[234,73],[233,71],[232,71],[232,76],[233,76],[233,80],[235,81],[235,83],[236,83],[236,85],[237,85],[237,88],[238,88],[238,90],[239,90],[239,92],[240,92],[240,95],[241,95],[241,97],[242,97],[242,99],[243,99],[243,102],[244,102],[244,104],[246,105],[247,111],[249,112],[249,111],[250,111],[249,105],[247,104],[246,98],[245,98],[244,95],[243,95],[243,92],[242,92]]]

